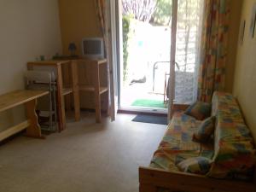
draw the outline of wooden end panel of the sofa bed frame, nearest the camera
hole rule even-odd
[[[139,183],[140,192],[157,192],[158,188],[186,192],[256,192],[256,177],[253,183],[247,183],[149,167],[139,167]]]

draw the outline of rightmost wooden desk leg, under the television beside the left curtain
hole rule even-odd
[[[102,122],[102,114],[101,114],[101,94],[100,94],[100,69],[97,62],[94,64],[94,70],[95,70],[95,110],[96,110],[96,123]]]

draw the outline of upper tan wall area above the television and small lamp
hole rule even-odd
[[[59,8],[63,53],[68,55],[68,44],[74,42],[78,46],[77,55],[81,55],[83,38],[101,36],[95,1],[59,0]]]

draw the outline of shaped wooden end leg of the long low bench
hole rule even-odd
[[[34,99],[30,102],[26,102],[26,116],[30,125],[26,128],[27,137],[44,138],[41,135],[40,125],[38,125],[38,115],[36,113],[37,100]]]

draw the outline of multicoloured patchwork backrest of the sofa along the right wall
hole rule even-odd
[[[255,148],[236,99],[231,94],[215,92],[212,97],[212,114],[217,118],[215,155],[207,175],[249,179],[255,165]]]

